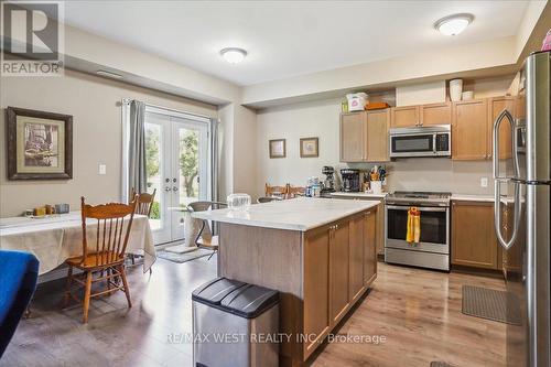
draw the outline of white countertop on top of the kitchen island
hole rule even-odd
[[[253,204],[248,211],[217,209],[192,217],[253,227],[306,231],[379,205],[379,201],[299,197]]]

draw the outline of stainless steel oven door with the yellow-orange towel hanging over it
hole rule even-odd
[[[407,242],[408,211],[411,206],[387,205],[387,239],[386,247],[418,250],[436,253],[450,253],[447,207],[420,206],[421,239],[419,244]]]

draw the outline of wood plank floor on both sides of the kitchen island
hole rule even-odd
[[[505,324],[461,313],[463,284],[503,289],[503,281],[381,262],[378,272],[338,334],[385,343],[327,343],[312,366],[505,366]],[[132,309],[120,292],[94,300],[88,325],[82,307],[61,310],[63,281],[41,285],[0,366],[192,366],[192,345],[170,338],[191,332],[191,292],[216,276],[216,259],[159,259],[151,277],[141,267],[128,273]]]

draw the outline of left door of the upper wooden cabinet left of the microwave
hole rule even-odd
[[[341,115],[341,162],[366,160],[367,112]]]

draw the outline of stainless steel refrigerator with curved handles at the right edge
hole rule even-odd
[[[551,366],[549,52],[530,55],[520,93],[494,122],[495,227],[505,255],[507,365]]]

